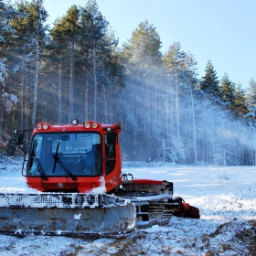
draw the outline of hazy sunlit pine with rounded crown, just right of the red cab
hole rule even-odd
[[[140,155],[133,156],[137,159],[151,158],[150,145],[163,144],[163,140],[156,136],[160,130],[155,130],[156,123],[154,127],[151,123],[151,116],[155,116],[158,107],[156,98],[160,93],[158,91],[160,86],[157,83],[162,63],[161,44],[155,27],[145,20],[133,31],[131,39],[123,45],[121,60],[123,80],[125,80],[123,112],[130,113],[127,123],[131,125],[127,127],[127,135],[136,134],[136,149],[133,150],[133,154],[140,153]],[[138,131],[140,131],[139,135],[137,135]],[[127,144],[131,141],[128,136]]]

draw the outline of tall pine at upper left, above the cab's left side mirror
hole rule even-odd
[[[47,43],[48,26],[44,25],[48,13],[43,6],[43,0],[33,0],[31,3],[19,1],[16,3],[18,12],[26,13],[25,17],[12,18],[9,25],[16,30],[13,37],[9,37],[12,45],[11,51],[16,53],[16,69],[21,79],[20,84],[20,127],[23,129],[26,109],[31,110],[30,120],[27,120],[29,128],[34,127],[37,114],[37,88],[40,53]],[[19,78],[17,78],[19,79]],[[28,90],[28,87],[30,87]],[[24,92],[27,91],[25,97]],[[27,99],[26,99],[27,98]],[[32,102],[32,104],[30,103]],[[31,105],[30,105],[31,104]]]

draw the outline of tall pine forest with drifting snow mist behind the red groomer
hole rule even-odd
[[[253,78],[243,90],[210,60],[198,78],[193,54],[163,53],[147,20],[119,48],[95,0],[53,27],[43,0],[0,4],[0,154],[15,129],[78,118],[121,123],[124,160],[255,165]]]

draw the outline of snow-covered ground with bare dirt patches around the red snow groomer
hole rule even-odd
[[[22,161],[0,155],[0,192],[28,191]],[[201,219],[173,217],[164,227],[116,237],[0,235],[0,255],[256,255],[256,166],[124,163],[123,173],[174,182],[175,195]]]

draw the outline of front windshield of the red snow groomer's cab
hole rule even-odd
[[[42,172],[46,176],[101,176],[100,133],[35,134],[27,176]]]

